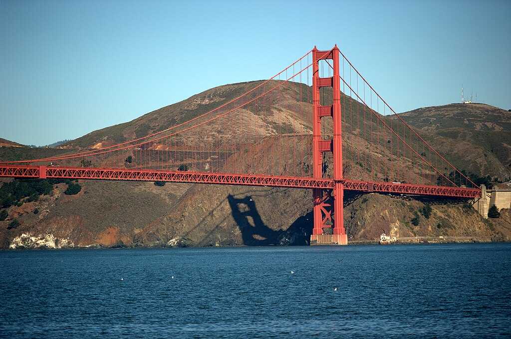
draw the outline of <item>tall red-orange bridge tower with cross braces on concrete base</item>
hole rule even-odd
[[[319,61],[332,60],[333,76],[319,77]],[[347,235],[343,223],[344,186],[342,178],[342,126],[341,126],[341,92],[339,77],[339,49],[337,45],[330,51],[312,50],[312,163],[313,177],[323,177],[323,153],[333,153],[334,189],[313,190],[314,227],[311,244],[347,245]],[[332,87],[332,105],[322,106],[319,101],[321,87]],[[321,118],[331,116],[333,123],[333,139],[323,140],[321,136]],[[333,200],[333,206],[330,202]],[[333,213],[333,218],[332,218]],[[333,227],[333,234],[323,234],[324,229]]]

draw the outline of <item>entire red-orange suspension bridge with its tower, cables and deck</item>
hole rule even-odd
[[[337,45],[314,47],[273,77],[246,85],[235,98],[142,137],[2,161],[0,177],[308,188],[311,243],[339,245],[347,244],[345,190],[432,199],[481,196]]]

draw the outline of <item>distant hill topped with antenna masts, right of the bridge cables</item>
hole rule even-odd
[[[486,104],[450,104],[400,115],[458,168],[511,179],[511,112]]]

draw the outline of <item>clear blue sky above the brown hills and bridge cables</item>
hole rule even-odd
[[[0,0],[0,137],[73,139],[335,43],[398,112],[461,84],[507,110],[510,37],[507,0]]]

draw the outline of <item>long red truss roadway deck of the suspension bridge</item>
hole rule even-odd
[[[35,165],[0,165],[0,177],[165,181],[291,188],[334,188],[333,179],[315,179],[308,177]],[[466,199],[481,197],[481,190],[476,188],[428,186],[392,182],[343,180],[343,188],[345,190],[359,192],[398,193],[411,196],[438,196]]]

